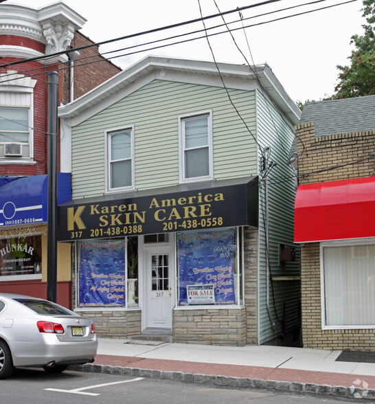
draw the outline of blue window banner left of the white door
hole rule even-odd
[[[79,243],[78,307],[125,306],[125,240]]]

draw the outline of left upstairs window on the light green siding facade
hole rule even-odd
[[[106,191],[134,189],[134,128],[106,131]]]

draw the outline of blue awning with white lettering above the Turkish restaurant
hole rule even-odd
[[[47,222],[47,175],[21,177],[0,186],[0,227]],[[71,201],[71,174],[58,172],[57,203]]]

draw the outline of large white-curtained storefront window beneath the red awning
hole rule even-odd
[[[322,255],[323,328],[374,328],[375,245],[324,246]]]

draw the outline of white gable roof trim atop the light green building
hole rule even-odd
[[[58,115],[63,119],[71,118],[74,126],[137,91],[152,80],[170,80],[223,87],[221,76],[226,87],[242,90],[254,90],[260,87],[256,81],[259,78],[261,87],[266,90],[276,106],[292,124],[298,123],[299,109],[268,65],[257,65],[251,69],[245,65],[219,63],[218,67],[220,74],[215,63],[212,62],[148,56],[89,91],[89,93],[84,94],[84,96],[70,104],[61,106]]]

